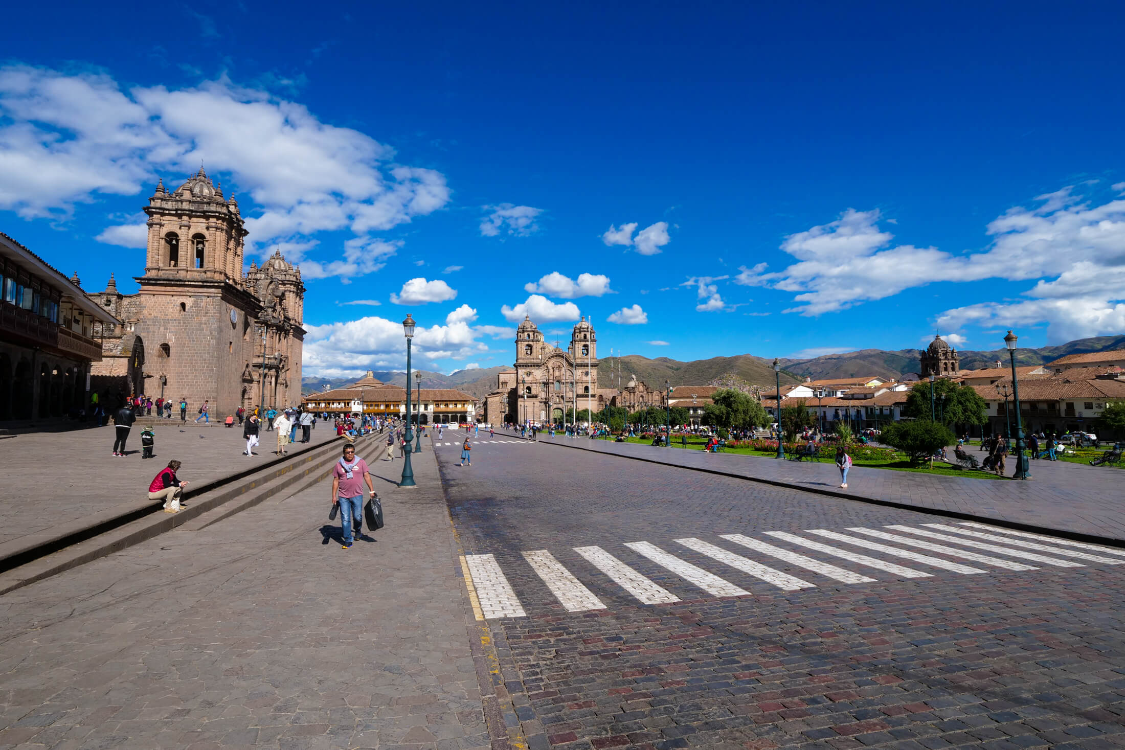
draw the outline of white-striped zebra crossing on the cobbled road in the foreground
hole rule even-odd
[[[687,536],[673,540],[673,544],[678,546],[665,544],[667,549],[646,541],[622,543],[624,550],[646,561],[636,566],[596,545],[572,548],[580,560],[570,568],[560,562],[550,550],[526,550],[521,555],[554,599],[572,613],[608,608],[591,589],[593,582],[587,580],[591,584],[587,586],[579,579],[593,571],[612,581],[610,586],[598,579],[598,586],[593,586],[594,588],[612,590],[613,595],[618,595],[613,587],[620,588],[627,598],[631,597],[638,604],[681,602],[676,594],[637,570],[637,567],[647,563],[654,563],[666,571],[667,575],[657,576],[651,572],[655,568],[647,566],[649,575],[660,578],[663,584],[676,589],[700,589],[713,597],[753,596],[755,587],[760,586],[799,591],[837,584],[873,584],[880,580],[875,577],[880,573],[884,573],[883,579],[932,579],[950,573],[973,576],[992,572],[994,569],[1020,572],[1125,564],[1125,550],[975,522],[927,523],[917,526],[890,524],[882,528],[853,526],[843,531],[809,528],[800,533],[767,531],[764,534],[772,542],[789,546],[778,546],[744,534],[720,534],[720,540],[737,545],[741,553]],[[826,541],[840,546],[827,544]],[[708,567],[713,570],[677,557],[675,552],[680,548],[696,553],[696,562],[705,559]],[[858,548],[868,554],[856,552],[852,548]],[[798,549],[801,551],[796,551]],[[810,552],[819,553],[824,559],[809,557]],[[872,557],[873,554],[881,557]],[[884,559],[888,557],[897,561]],[[854,563],[863,572],[842,567],[844,563],[827,562],[826,559]],[[534,579],[526,576],[525,568],[511,569],[511,564],[519,564],[518,562],[511,563],[508,570],[516,581],[515,587],[494,554],[466,554],[461,562],[462,569],[467,571],[466,585],[469,587],[477,620],[528,616],[528,609],[521,603],[521,594],[518,594],[516,588],[529,589],[523,594],[528,599],[543,599],[530,590]],[[772,564],[766,564],[767,562]],[[772,566],[786,567],[788,571]],[[744,578],[736,578],[731,571]],[[829,580],[820,580],[821,577]],[[528,584],[529,580],[532,584]]]

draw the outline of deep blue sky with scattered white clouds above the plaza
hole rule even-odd
[[[7,9],[0,231],[132,291],[202,162],[306,373],[1125,332],[1119,3],[117,8]]]

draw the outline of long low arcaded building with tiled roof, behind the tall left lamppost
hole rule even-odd
[[[418,424],[461,424],[476,421],[476,404],[468,394],[449,388],[411,390],[411,414]],[[312,394],[304,399],[305,408],[328,414],[363,414],[384,418],[406,416],[406,389],[367,374],[344,388]]]

